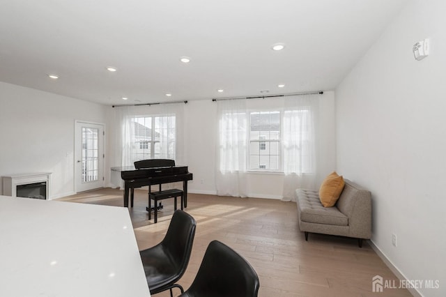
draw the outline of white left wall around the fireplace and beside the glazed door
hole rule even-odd
[[[75,120],[105,119],[102,105],[0,82],[0,176],[52,172],[51,198],[73,194]]]

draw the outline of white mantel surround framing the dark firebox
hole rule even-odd
[[[27,185],[29,183],[47,183],[47,199],[49,195],[49,181],[51,172],[36,172],[29,174],[15,174],[3,176],[3,195],[17,197],[17,185]]]

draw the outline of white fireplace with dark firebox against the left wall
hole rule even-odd
[[[51,173],[3,176],[3,195],[34,199],[49,199]]]

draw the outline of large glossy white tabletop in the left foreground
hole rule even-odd
[[[150,297],[128,209],[0,196],[0,296]]]

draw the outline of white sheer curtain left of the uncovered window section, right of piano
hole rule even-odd
[[[246,100],[217,101],[217,195],[247,197]]]

